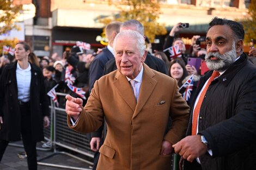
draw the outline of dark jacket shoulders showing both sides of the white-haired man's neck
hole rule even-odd
[[[156,58],[153,55],[147,54],[147,57],[144,63],[147,64],[149,68],[168,75],[168,70],[163,60]],[[115,59],[111,59],[105,65],[104,75],[114,70],[117,70],[117,65],[115,65]]]

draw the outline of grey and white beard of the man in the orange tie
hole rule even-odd
[[[211,57],[214,56],[216,60],[211,60]],[[210,52],[205,54],[206,65],[210,70],[216,70],[222,72],[227,70],[227,68],[235,62],[236,59],[236,49],[235,42],[232,45],[232,49],[229,52],[220,54],[218,52]]]

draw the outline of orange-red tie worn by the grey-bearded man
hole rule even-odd
[[[198,99],[198,102],[197,102],[197,105],[196,105],[196,108],[194,108],[194,114],[193,114],[193,122],[192,122],[192,135],[196,135],[197,134],[197,121],[198,121],[198,115],[199,115],[199,112],[200,112],[200,108],[201,108],[201,105],[203,103],[203,100],[204,100],[204,96],[205,96],[205,93],[209,87],[209,85],[211,84],[211,81],[214,80],[214,78],[218,77],[220,75],[219,72],[217,71],[214,71],[208,81],[208,83],[206,84],[206,86],[204,87],[204,90],[202,91],[199,99]]]

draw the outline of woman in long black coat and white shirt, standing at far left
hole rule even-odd
[[[26,42],[15,46],[16,62],[6,66],[0,81],[0,161],[9,141],[21,140],[28,169],[37,169],[36,142],[44,140],[49,108],[39,67],[28,62],[31,48]]]

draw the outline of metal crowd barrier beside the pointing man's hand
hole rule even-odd
[[[67,94],[65,93],[57,93],[59,99],[63,99]],[[46,156],[38,160],[38,165],[52,166],[52,167],[60,167],[60,168],[68,168],[68,169],[81,169],[81,170],[89,170],[87,168],[80,167],[71,167],[65,165],[56,165],[53,163],[45,163],[42,160],[48,159],[51,156],[56,154],[65,154],[71,156],[72,158],[78,159],[80,161],[86,162],[89,165],[93,165],[93,162],[90,162],[86,159],[82,159],[78,156],[72,155],[67,152],[58,152],[57,146],[68,149],[70,151],[74,151],[76,153],[88,156],[89,158],[93,158],[94,153],[90,150],[90,141],[86,138],[85,134],[77,133],[76,131],[70,129],[66,124],[66,112],[64,108],[56,107],[53,101],[51,100],[51,125],[46,128],[45,140],[50,142],[50,146],[53,149],[53,153],[51,155]]]

